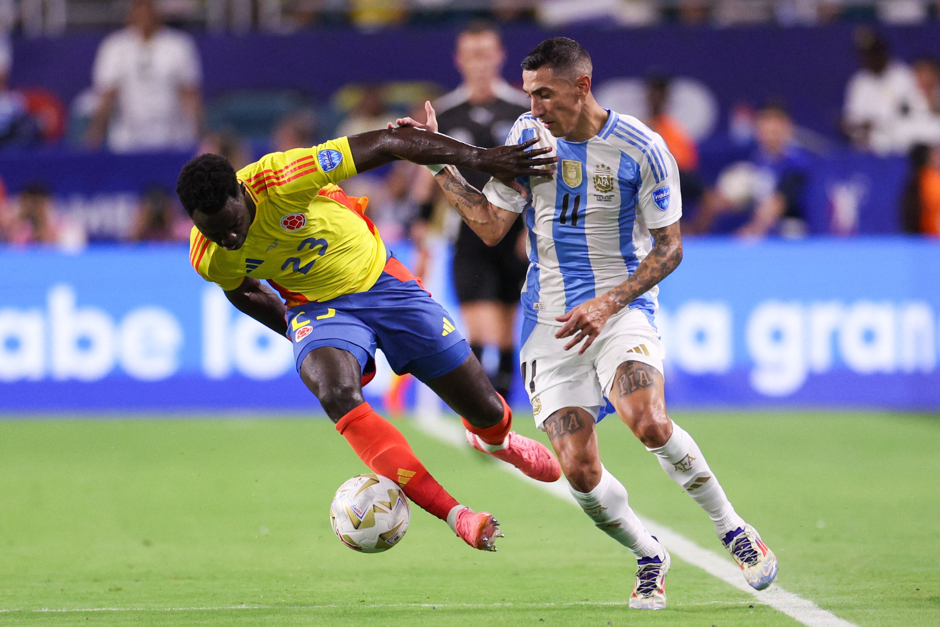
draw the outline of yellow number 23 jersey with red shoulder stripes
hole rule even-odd
[[[355,174],[346,137],[246,165],[236,176],[257,210],[243,246],[226,250],[193,227],[190,262],[223,290],[265,279],[289,307],[368,290],[387,254],[365,215],[368,199],[336,185]]]

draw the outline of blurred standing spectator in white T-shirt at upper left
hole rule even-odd
[[[196,144],[202,71],[193,39],[166,28],[150,0],[135,0],[128,26],[102,41],[92,80],[101,99],[86,133],[115,152]]]

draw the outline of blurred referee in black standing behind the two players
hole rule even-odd
[[[503,79],[505,60],[503,43],[493,24],[478,22],[463,28],[454,51],[463,82],[434,102],[441,133],[483,148],[506,142],[516,118],[529,110],[529,100]],[[462,169],[461,174],[477,189],[483,189],[489,180],[473,170]],[[431,206],[428,203],[422,211],[425,220]],[[502,242],[491,248],[461,221],[454,246],[454,286],[467,324],[467,339],[478,359],[484,346],[499,347],[499,368],[490,378],[504,398],[509,396],[515,368],[512,329],[528,267],[523,226],[524,221],[517,220]]]

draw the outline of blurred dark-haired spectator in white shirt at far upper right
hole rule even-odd
[[[907,64],[892,59],[885,39],[860,30],[855,39],[862,68],[845,90],[844,128],[856,148],[900,154],[919,142],[927,101]]]

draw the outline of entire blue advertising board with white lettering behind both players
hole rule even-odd
[[[290,342],[185,247],[0,249],[0,264],[0,412],[319,408]],[[940,243],[689,239],[660,304],[674,406],[940,410]],[[392,383],[382,364],[368,400]]]

